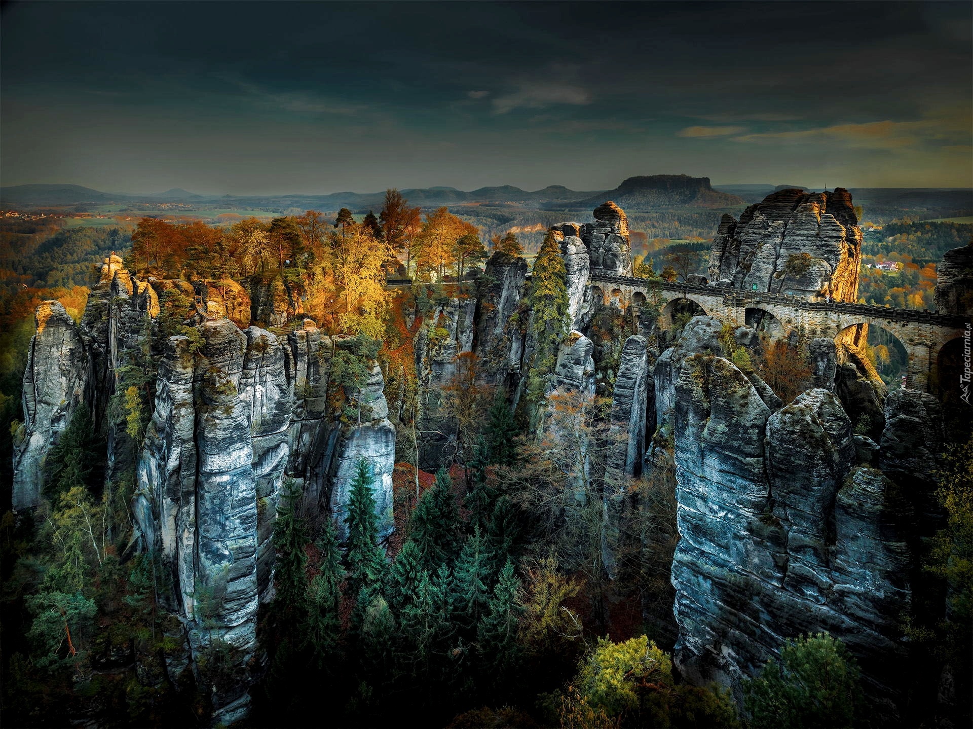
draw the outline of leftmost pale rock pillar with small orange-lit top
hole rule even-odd
[[[42,302],[34,323],[37,333],[23,373],[24,422],[14,434],[15,509],[40,500],[48,449],[85,401],[89,379],[85,344],[60,302]]]

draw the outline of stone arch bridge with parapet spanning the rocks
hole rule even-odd
[[[909,355],[906,386],[924,391],[929,391],[936,382],[943,347],[962,337],[970,326],[968,318],[931,311],[815,302],[788,294],[667,283],[659,279],[604,273],[592,273],[588,285],[593,298],[601,296],[606,304],[614,302],[623,309],[650,302],[659,306],[663,311],[660,326],[664,329],[671,325],[672,305],[687,300],[707,314],[738,326],[748,323],[748,317],[754,312],[762,311],[764,313],[758,315],[773,316],[782,335],[793,329],[803,329],[811,337],[851,341],[859,324],[879,326],[898,339]]]

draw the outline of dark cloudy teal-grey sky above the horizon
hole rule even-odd
[[[971,8],[6,4],[2,182],[970,186]]]

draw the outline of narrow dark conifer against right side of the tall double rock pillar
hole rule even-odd
[[[277,551],[273,585],[277,592],[278,611],[294,620],[305,618],[307,599],[307,529],[297,513],[301,489],[294,479],[287,479],[277,505],[277,521],[273,526],[273,547]]]

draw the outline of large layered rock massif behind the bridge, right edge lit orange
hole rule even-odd
[[[847,190],[780,190],[724,215],[709,252],[709,279],[746,291],[853,302],[861,230]]]

